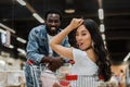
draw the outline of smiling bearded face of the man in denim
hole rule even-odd
[[[55,35],[55,33],[57,32],[57,28],[61,25],[61,21],[60,21],[60,15],[55,14],[55,13],[50,13],[47,16],[47,30],[50,35]]]

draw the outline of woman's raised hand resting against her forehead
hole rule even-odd
[[[82,18],[73,18],[68,25],[72,30],[78,28],[83,23]]]

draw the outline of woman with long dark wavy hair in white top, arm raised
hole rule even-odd
[[[75,32],[74,47],[61,46],[70,32]],[[112,72],[108,53],[93,20],[73,18],[70,24],[51,40],[50,46],[58,54],[75,61],[72,74],[98,75],[104,82],[109,80]]]

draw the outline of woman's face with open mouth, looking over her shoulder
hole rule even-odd
[[[84,25],[81,25],[77,28],[76,32],[76,41],[81,50],[87,50],[92,45],[92,39],[89,30],[84,27]]]

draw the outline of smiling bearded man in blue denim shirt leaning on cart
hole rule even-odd
[[[39,66],[41,63],[49,63],[49,69],[53,72],[56,71],[62,64],[63,59],[58,57],[49,46],[53,36],[61,32],[62,15],[56,10],[49,10],[46,15],[44,25],[32,28],[28,36],[27,44],[27,63],[25,69],[26,85],[27,87],[39,87],[34,83],[29,64]],[[68,39],[64,39],[63,46],[69,47]],[[29,64],[28,64],[29,63]],[[40,77],[40,72],[37,72]],[[35,80],[37,82],[37,80]]]

